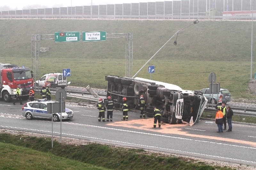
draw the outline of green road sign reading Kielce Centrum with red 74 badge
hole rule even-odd
[[[55,42],[80,41],[80,32],[55,32]]]

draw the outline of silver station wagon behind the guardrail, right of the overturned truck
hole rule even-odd
[[[202,92],[204,94],[204,96],[207,98],[208,103],[217,104],[217,102],[219,100],[222,100],[222,102],[224,102],[224,103],[231,101],[231,94],[228,91],[228,89],[220,88],[219,94],[217,94],[217,93],[213,94],[213,101],[212,101],[212,93],[210,93],[209,88],[201,89],[200,92]]]

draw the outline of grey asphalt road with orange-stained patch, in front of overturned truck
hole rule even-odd
[[[1,129],[52,133],[50,120],[27,120],[21,107],[0,101]],[[153,118],[140,119],[139,112],[129,112],[129,121],[121,121],[122,112],[115,110],[113,122],[98,122],[93,105],[66,107],[74,111],[74,118],[62,121],[63,137],[256,166],[256,126],[233,123],[232,132],[216,133],[215,122],[201,120],[194,126],[163,124],[153,129]],[[60,122],[53,122],[53,132],[60,136]]]

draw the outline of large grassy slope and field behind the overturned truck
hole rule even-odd
[[[106,31],[133,33],[134,75],[179,29],[193,21],[183,20],[0,20],[0,62],[31,68],[31,35],[65,31]],[[249,91],[251,66],[251,22],[199,20],[173,38],[140,71],[137,77],[150,78],[148,65],[155,65],[152,79],[200,90],[209,86],[208,76],[227,88],[232,98],[254,98]],[[253,39],[256,44],[256,39]],[[106,75],[125,76],[125,40],[59,42],[41,40],[40,77],[70,68],[73,86],[106,88]],[[256,48],[253,48],[256,54]],[[256,72],[253,55],[253,75]]]

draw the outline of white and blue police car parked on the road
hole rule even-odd
[[[37,101],[27,102],[22,107],[22,116],[25,116],[28,120],[33,118],[48,118],[52,119],[52,114],[47,113],[47,103],[54,103],[55,101],[42,99]],[[65,108],[65,113],[61,113],[62,120],[72,119],[73,111]],[[53,113],[53,121],[58,122],[60,120],[60,113]]]

